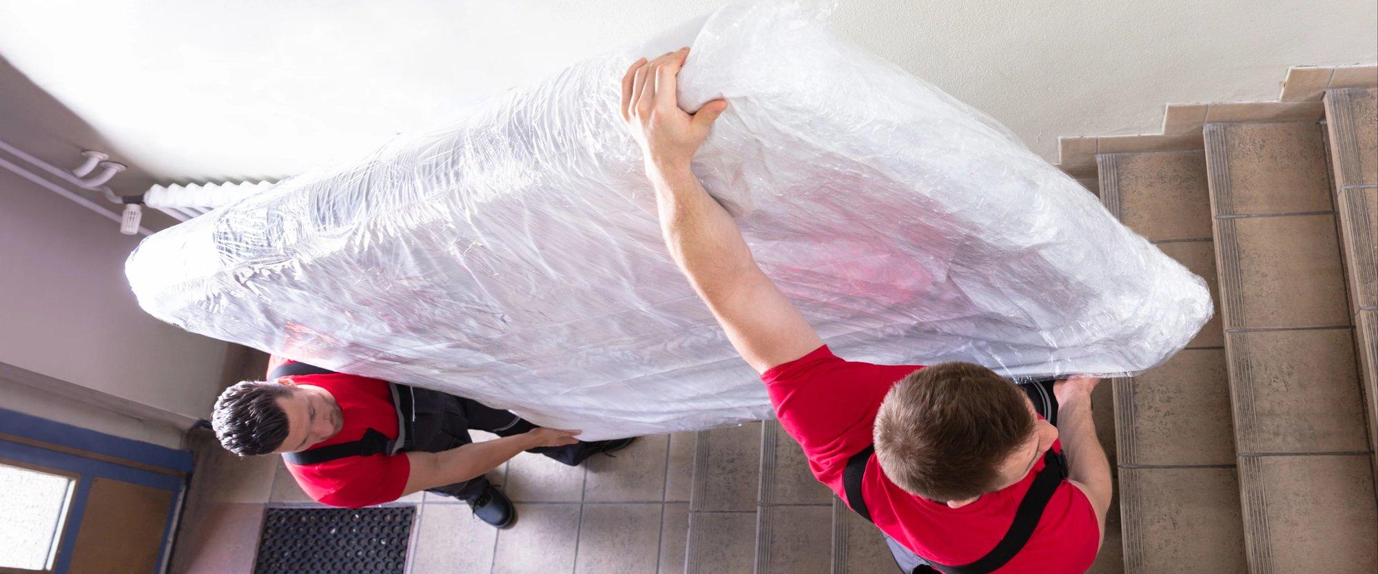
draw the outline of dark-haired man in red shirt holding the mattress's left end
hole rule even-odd
[[[313,499],[360,508],[422,490],[469,502],[499,528],[511,501],[484,476],[522,451],[566,465],[626,448],[634,439],[582,442],[579,430],[536,426],[478,402],[273,357],[270,381],[220,393],[211,426],[240,455],[281,454]],[[469,430],[497,439],[474,443]]]

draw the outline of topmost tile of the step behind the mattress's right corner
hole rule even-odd
[[[1119,217],[1148,240],[1211,236],[1202,152],[1124,153],[1113,159]]]

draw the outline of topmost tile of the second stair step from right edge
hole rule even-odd
[[[1213,106],[1214,108],[1214,106]],[[1211,130],[1220,130],[1220,135]],[[1217,215],[1330,211],[1326,145],[1315,121],[1222,124],[1228,189],[1213,189]]]

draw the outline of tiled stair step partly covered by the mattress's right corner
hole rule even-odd
[[[1098,155],[1097,164],[1107,210],[1202,276],[1214,297],[1204,153]],[[1123,571],[1160,573],[1181,564],[1211,573],[1244,571],[1220,313],[1162,366],[1111,384]],[[1192,493],[1184,499],[1182,490]],[[1107,530],[1097,564],[1109,557],[1109,544]]]

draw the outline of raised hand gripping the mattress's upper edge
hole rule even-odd
[[[688,47],[649,62],[641,58],[621,77],[621,119],[641,144],[652,177],[688,172],[712,121],[728,109],[725,99],[714,99],[695,115],[679,109],[675,76],[686,58]]]

